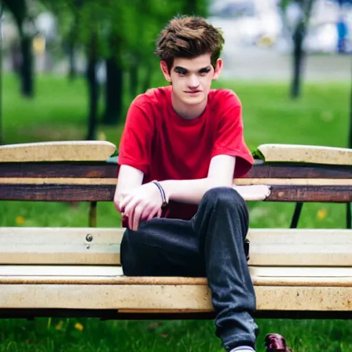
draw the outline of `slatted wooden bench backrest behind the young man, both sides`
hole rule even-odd
[[[277,145],[259,150],[265,159],[236,184],[271,185],[267,201],[352,201],[352,150]],[[109,142],[2,146],[0,200],[111,201],[118,175],[117,159],[109,159],[114,152]]]

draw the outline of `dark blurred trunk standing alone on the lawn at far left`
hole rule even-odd
[[[32,38],[30,36],[21,38],[21,92],[28,98],[34,96]]]

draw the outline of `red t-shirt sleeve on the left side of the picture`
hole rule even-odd
[[[136,98],[127,112],[118,151],[118,164],[132,166],[147,174],[151,160],[153,121],[140,100]]]

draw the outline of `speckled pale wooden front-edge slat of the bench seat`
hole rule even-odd
[[[257,310],[351,311],[352,287],[256,286]],[[133,293],[133,294],[132,294]],[[207,285],[0,285],[1,307],[210,311]]]

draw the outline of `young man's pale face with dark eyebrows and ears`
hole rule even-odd
[[[213,79],[221,72],[222,61],[212,67],[210,54],[195,58],[175,58],[170,72],[166,63],[162,62],[162,72],[168,82],[173,85],[173,94],[184,104],[199,104],[208,97]]]

